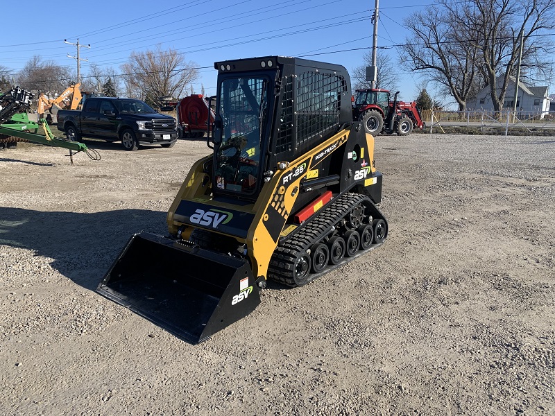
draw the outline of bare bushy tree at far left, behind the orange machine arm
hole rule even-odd
[[[69,67],[62,67],[55,62],[42,61],[40,55],[28,60],[19,73],[17,83],[32,92],[45,92],[57,96],[71,83],[75,82],[74,72]]]

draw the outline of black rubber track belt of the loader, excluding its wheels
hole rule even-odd
[[[280,242],[270,259],[268,278],[287,284],[287,286],[298,286],[293,279],[293,270],[298,254],[306,251],[311,245],[321,241],[328,234],[331,234],[334,231],[334,225],[339,223],[342,218],[349,214],[353,207],[361,202],[368,202],[373,205],[373,202],[370,201],[368,197],[360,193],[345,193],[332,202],[321,214],[318,214],[318,216],[310,220],[309,223],[305,224],[296,234],[293,234],[291,238]],[[359,250],[359,253],[355,257],[379,245],[382,245],[382,243],[373,244],[367,250]],[[345,257],[341,263],[334,266],[327,266],[323,272],[309,274],[307,283],[321,275],[325,275],[325,273],[343,265],[347,261],[355,259],[355,257]]]

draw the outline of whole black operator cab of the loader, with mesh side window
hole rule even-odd
[[[214,67],[214,156],[206,166],[214,198],[256,200],[281,162],[352,123],[350,80],[340,65],[269,56]]]

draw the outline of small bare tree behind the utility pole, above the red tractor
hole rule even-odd
[[[353,89],[368,89],[372,82],[366,80],[366,67],[372,66],[372,53],[364,53],[364,64],[352,71]],[[376,55],[377,82],[376,88],[396,91],[399,88],[399,72],[395,69],[395,62],[386,52],[379,51]]]

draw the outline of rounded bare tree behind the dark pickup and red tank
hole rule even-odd
[[[133,52],[128,63],[121,65],[122,77],[130,96],[140,95],[155,102],[160,96],[179,97],[198,78],[194,62],[173,49]]]

